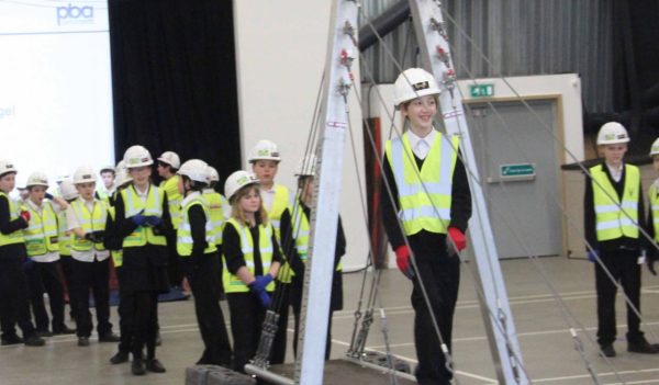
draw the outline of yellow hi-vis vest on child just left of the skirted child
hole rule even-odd
[[[85,200],[78,197],[74,202],[71,202],[71,208],[76,214],[76,219],[78,220],[78,225],[80,228],[85,230],[85,233],[93,233],[93,231],[104,231],[105,224],[108,222],[108,203],[97,200],[93,200],[93,208],[89,212]],[[105,247],[103,242],[92,242],[91,240],[80,238],[75,233],[71,231],[71,249],[76,251],[89,251],[92,248],[103,251]]]

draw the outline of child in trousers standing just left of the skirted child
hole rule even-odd
[[[92,321],[89,292],[93,294],[99,342],[118,342],[110,324],[110,251],[105,249],[109,205],[94,197],[96,172],[80,167],[74,173],[78,199],[67,210],[71,231],[71,268],[74,271],[74,312],[78,326],[78,346],[88,347]]]

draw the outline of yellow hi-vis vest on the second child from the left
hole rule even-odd
[[[33,210],[32,205],[27,203],[23,205],[23,208],[30,212],[30,223],[27,228],[23,229],[27,256],[59,252],[57,214],[55,214],[51,201],[43,201],[41,213]]]

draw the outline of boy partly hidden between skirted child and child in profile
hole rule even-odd
[[[179,175],[176,173],[181,166],[181,160],[178,154],[174,151],[165,151],[158,157],[158,175],[163,178],[160,181],[160,189],[167,193],[167,202],[169,204],[169,215],[171,215],[171,225],[174,230],[178,229],[178,224],[181,220],[181,201],[183,197],[178,191]],[[169,282],[176,287],[182,287],[183,272],[181,270],[181,262],[176,253],[176,236],[172,234],[167,239],[167,247],[169,249],[169,262],[168,262],[168,274]]]

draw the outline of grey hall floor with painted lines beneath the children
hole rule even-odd
[[[626,316],[618,299],[618,355],[604,360],[597,355],[595,336],[595,295],[592,264],[581,260],[544,258],[541,269],[560,294],[567,310],[549,291],[538,268],[528,260],[502,262],[511,308],[515,318],[524,369],[535,384],[594,384],[587,363],[574,349],[570,335],[573,327],[581,340],[585,360],[597,373],[600,384],[659,384],[659,355],[626,351]],[[659,278],[644,271],[644,330],[650,341],[659,342]],[[333,358],[340,358],[349,343],[357,306],[360,273],[345,275],[345,310],[335,314]],[[477,293],[468,265],[462,267],[460,298],[456,312],[454,359],[457,384],[495,384],[494,366],[483,328]],[[412,342],[413,312],[409,303],[411,284],[395,270],[384,272],[381,293],[388,316],[392,352],[415,362]],[[618,296],[619,297],[619,296]],[[225,304],[223,304],[226,310]],[[116,312],[113,308],[113,318]],[[113,320],[116,325],[116,319]],[[160,325],[164,344],[158,358],[167,367],[165,374],[134,377],[130,364],[111,365],[114,344],[92,341],[78,348],[75,338],[54,337],[45,348],[0,348],[0,385],[13,384],[183,384],[186,366],[201,354],[191,301],[161,304]],[[368,349],[384,351],[380,321],[371,327]],[[290,355],[290,354],[289,354]]]

